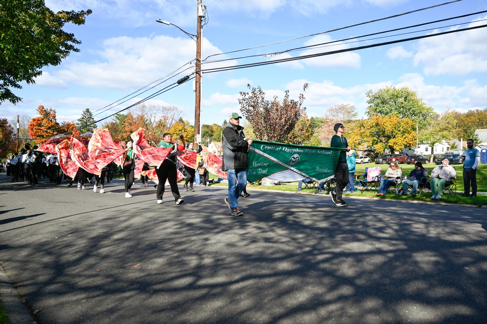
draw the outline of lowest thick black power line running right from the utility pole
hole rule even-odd
[[[403,38],[403,39],[398,39],[398,40],[391,40],[391,41],[388,41],[388,42],[371,44],[371,45],[364,45],[364,46],[358,46],[358,47],[353,47],[353,48],[348,48],[348,49],[342,49],[342,50],[337,50],[337,51],[330,51],[330,52],[322,52],[322,53],[317,53],[317,54],[301,55],[301,56],[296,56],[296,57],[281,58],[281,59],[271,60],[271,61],[262,61],[262,62],[255,62],[255,63],[247,63],[247,64],[240,64],[240,65],[220,67],[220,68],[204,69],[204,70],[201,70],[201,72],[203,72],[203,73],[221,72],[221,71],[228,71],[228,70],[243,69],[243,68],[248,68],[248,67],[252,67],[252,66],[261,66],[261,65],[276,64],[276,63],[281,63],[281,62],[289,62],[289,61],[300,60],[300,59],[304,59],[304,58],[311,58],[311,57],[318,57],[318,56],[323,56],[323,55],[345,53],[345,52],[357,51],[357,50],[362,50],[362,49],[367,49],[367,48],[372,48],[372,47],[377,47],[377,46],[384,46],[384,45],[391,45],[391,44],[396,44],[396,43],[402,43],[402,42],[406,42],[406,41],[411,41],[411,40],[416,40],[416,39],[422,39],[422,38],[427,38],[427,37],[433,37],[433,36],[440,36],[440,35],[458,33],[458,32],[463,32],[463,31],[468,31],[468,30],[478,29],[478,28],[484,28],[484,27],[487,27],[487,24],[486,25],[479,25],[479,26],[474,26],[474,27],[463,28],[463,29],[457,29],[457,30],[453,30],[453,31],[446,31],[446,32],[441,32],[441,33],[436,33],[436,34],[416,36],[416,37],[410,37],[410,38]]]

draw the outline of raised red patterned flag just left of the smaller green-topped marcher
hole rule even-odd
[[[116,160],[126,150],[113,143],[112,135],[107,128],[95,128],[88,143],[88,155],[98,170]]]

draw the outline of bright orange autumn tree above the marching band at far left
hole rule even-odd
[[[29,136],[37,143],[44,143],[50,137],[62,133],[61,126],[56,121],[56,110],[46,109],[44,106],[37,107],[39,117],[32,118],[29,123]]]

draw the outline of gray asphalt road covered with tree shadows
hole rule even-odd
[[[485,209],[5,178],[0,261],[44,324],[487,323]]]

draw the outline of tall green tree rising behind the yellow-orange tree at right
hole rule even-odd
[[[394,114],[400,119],[408,118],[411,120],[414,129],[417,123],[420,130],[430,125],[433,120],[433,108],[426,106],[423,99],[418,98],[417,92],[408,87],[397,89],[390,86],[375,92],[369,90],[366,96],[369,98],[367,100],[369,107],[366,111],[369,117],[374,113],[381,116],[392,116]]]

